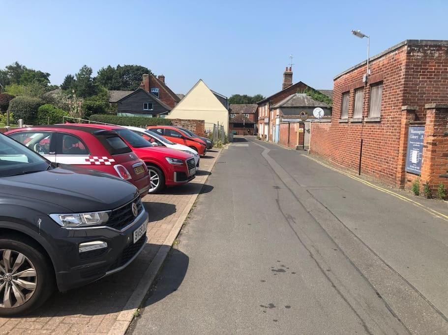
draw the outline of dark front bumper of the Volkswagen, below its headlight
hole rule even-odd
[[[59,290],[66,291],[94,282],[128,266],[145,248],[146,232],[134,243],[134,232],[144,224],[148,224],[148,213],[143,209],[120,231],[110,227],[58,228],[59,236],[53,237],[60,255],[55,264]],[[86,257],[79,253],[79,244],[90,241],[104,241],[107,248],[100,254],[98,251]]]

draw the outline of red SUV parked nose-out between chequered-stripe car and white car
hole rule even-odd
[[[153,146],[132,130],[119,126],[84,125],[72,127],[113,130],[126,142],[132,151],[142,159],[149,172],[149,193],[156,193],[165,186],[187,183],[196,176],[194,156],[180,150]]]

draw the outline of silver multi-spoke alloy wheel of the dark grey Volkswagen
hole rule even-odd
[[[30,259],[10,249],[0,249],[0,308],[15,308],[30,300],[37,273]]]

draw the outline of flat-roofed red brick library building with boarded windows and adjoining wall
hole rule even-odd
[[[448,41],[403,41],[366,72],[364,61],[334,77],[331,122],[312,123],[310,153],[399,187],[448,186]],[[421,176],[407,167],[410,127],[424,127]]]

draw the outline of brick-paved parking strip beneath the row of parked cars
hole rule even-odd
[[[144,198],[149,212],[148,244],[123,271],[90,285],[55,293],[37,313],[0,318],[0,334],[124,334],[164,255],[169,251],[203,185],[219,149],[201,158],[197,177],[186,185]]]

